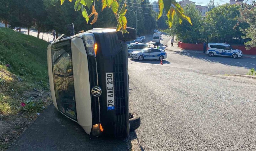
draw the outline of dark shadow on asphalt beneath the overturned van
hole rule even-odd
[[[9,150],[127,151],[127,140],[90,137],[51,104]]]

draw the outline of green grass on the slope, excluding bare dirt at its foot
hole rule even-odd
[[[0,114],[24,111],[20,103],[29,99],[24,92],[49,89],[48,45],[36,37],[0,28]],[[34,110],[27,110],[30,111]]]

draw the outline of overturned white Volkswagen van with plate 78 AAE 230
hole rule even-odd
[[[122,137],[140,125],[129,112],[128,49],[136,30],[94,28],[47,47],[53,104],[91,136]],[[50,118],[50,117],[49,117]]]

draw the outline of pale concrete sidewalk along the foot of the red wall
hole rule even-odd
[[[185,50],[185,49],[182,49],[182,48],[178,47],[178,42],[174,42],[173,47],[171,47],[171,41],[167,42],[167,47],[165,48],[165,50],[174,51],[174,52],[181,52],[181,53],[203,53],[203,51],[200,51],[200,50]],[[205,54],[205,55],[207,55],[207,54]],[[243,57],[256,58],[256,55],[244,54]]]

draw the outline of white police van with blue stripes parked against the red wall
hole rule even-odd
[[[243,52],[238,49],[233,49],[229,44],[223,43],[209,43],[206,54],[210,57],[217,56],[229,56],[232,58],[238,58],[243,56]]]

